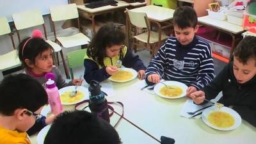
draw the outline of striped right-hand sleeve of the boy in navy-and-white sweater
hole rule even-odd
[[[208,49],[202,51],[200,56],[200,66],[198,67],[198,76],[196,77],[195,83],[191,86],[195,86],[197,90],[204,88],[214,78],[214,63],[211,54],[211,48],[209,45]]]

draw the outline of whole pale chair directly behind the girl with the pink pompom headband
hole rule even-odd
[[[54,49],[54,52],[56,52],[57,60],[58,60],[58,52],[60,52],[66,76],[67,78],[69,78],[69,72],[68,72],[67,65],[65,63],[63,52],[60,45],[56,44],[55,42],[52,42],[51,40],[47,40],[47,32],[46,32],[44,18],[42,16],[41,10],[28,10],[25,12],[14,13],[12,15],[12,19],[15,24],[15,28],[17,29],[19,42],[21,42],[20,30],[35,28],[36,26],[42,26],[42,28],[44,29],[45,42],[47,42],[49,45],[52,46],[52,48]],[[59,65],[59,60],[58,60],[58,65]]]

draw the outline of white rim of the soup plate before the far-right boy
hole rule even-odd
[[[223,112],[226,112],[226,113],[232,115],[235,119],[235,124],[232,125],[231,127],[227,127],[227,128],[221,128],[221,127],[216,127],[215,125],[212,125],[207,120],[207,118],[212,112],[215,112],[215,111],[223,111]],[[218,129],[221,131],[230,131],[230,130],[236,129],[237,127],[239,127],[239,125],[242,122],[241,116],[236,111],[234,111],[233,109],[227,108],[225,106],[220,109],[217,108],[216,106],[212,106],[210,108],[204,109],[204,111],[202,113],[202,119],[203,119],[204,123],[207,124],[209,127],[212,127],[213,129]]]

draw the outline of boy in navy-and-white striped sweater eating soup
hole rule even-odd
[[[188,87],[187,96],[202,89],[214,77],[211,47],[196,37],[198,31],[195,10],[181,6],[173,13],[176,37],[170,37],[145,72],[147,84],[159,83],[161,78],[179,81]]]

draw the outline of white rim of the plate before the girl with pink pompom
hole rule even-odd
[[[68,92],[68,91],[72,91],[75,89],[76,86],[66,86],[64,88],[61,88],[59,90],[60,93],[60,97],[63,93]],[[81,100],[78,100],[77,102],[61,102],[62,105],[72,105],[72,104],[77,104],[78,102],[81,102],[83,100],[89,99],[89,92],[88,89],[84,88],[83,86],[77,86],[77,91],[83,92],[84,93],[84,97]]]

